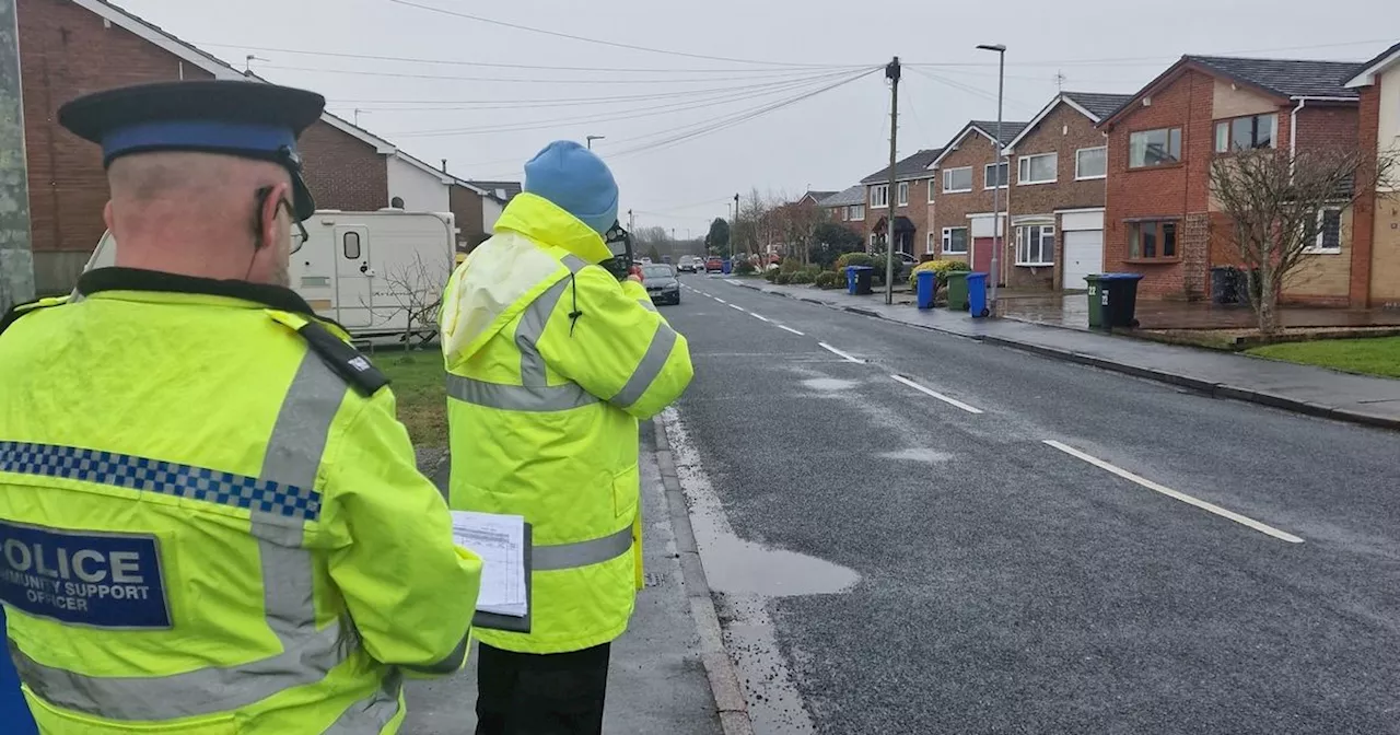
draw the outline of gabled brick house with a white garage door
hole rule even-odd
[[[1084,288],[1085,276],[1103,272],[1107,143],[1096,126],[1130,98],[1061,92],[1008,143],[1007,286]]]

